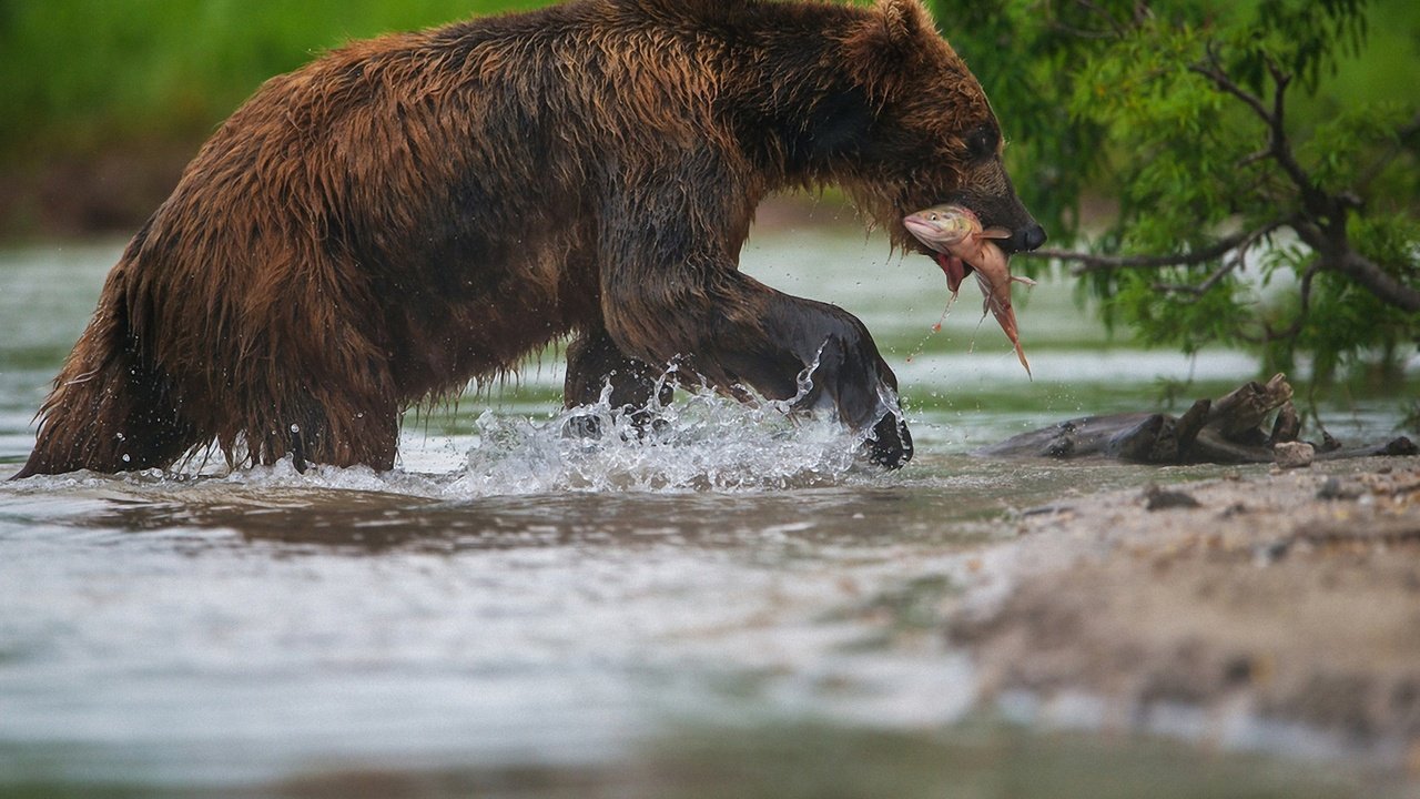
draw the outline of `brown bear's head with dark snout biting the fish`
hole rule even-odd
[[[1034,250],[1045,230],[1031,218],[1001,162],[1001,125],[981,84],[937,34],[920,0],[878,0],[842,45],[870,112],[848,191],[899,247],[923,250],[902,218],[954,202],[1007,250]]]

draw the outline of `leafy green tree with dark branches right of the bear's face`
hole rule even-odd
[[[1322,381],[1366,360],[1393,370],[1414,351],[1420,9],[943,0],[936,10],[1015,139],[1008,166],[1052,233],[1079,233],[1071,209],[1091,192],[1118,205],[1092,225],[1088,252],[1054,253],[1079,264],[1106,323],[1190,353],[1247,347],[1264,371],[1305,358]],[[1373,63],[1393,71],[1355,80]]]

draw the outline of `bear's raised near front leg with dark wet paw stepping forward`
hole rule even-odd
[[[755,196],[743,171],[713,149],[663,166],[628,175],[629,189],[602,209],[602,320],[621,351],[652,364],[686,358],[690,371],[728,392],[748,384],[770,400],[832,408],[866,431],[869,458],[906,463],[912,435],[897,378],[863,323],[738,270],[753,203],[737,203]],[[717,191],[696,191],[707,185]],[[798,378],[809,368],[812,382],[801,392]]]

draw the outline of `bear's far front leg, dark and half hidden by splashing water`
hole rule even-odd
[[[670,402],[674,388],[662,380],[665,371],[622,353],[606,330],[584,331],[567,347],[567,380],[562,382],[562,407],[571,409],[599,402],[609,385],[608,404],[629,412],[636,428],[649,424],[650,400]],[[596,438],[601,429],[595,417],[578,417],[572,432],[582,438]]]

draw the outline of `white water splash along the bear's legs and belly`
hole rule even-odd
[[[804,409],[816,365],[815,360],[798,375],[798,394],[784,401],[740,402],[701,387],[682,388],[669,404],[653,398],[645,408],[616,408],[608,387],[598,402],[551,417],[486,411],[471,431],[442,445],[426,438],[429,451],[406,435],[408,465],[390,472],[312,465],[302,473],[290,458],[227,471],[199,459],[169,471],[36,478],[21,488],[145,496],[178,489],[189,499],[195,492],[354,490],[464,500],[568,490],[774,490],[882,479],[882,469],[863,458],[865,434],[845,429],[826,395],[814,402],[822,408]],[[662,377],[673,378],[674,370]],[[896,397],[882,401],[897,407]]]

